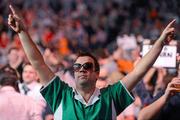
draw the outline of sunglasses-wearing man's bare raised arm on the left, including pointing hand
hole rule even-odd
[[[12,14],[9,15],[8,24],[15,32],[18,33],[24,51],[30,63],[40,77],[41,84],[46,85],[55,75],[45,64],[40,51],[38,50],[29,33],[25,29],[22,18],[18,14],[17,10],[15,10],[11,5],[10,9],[12,11]]]

